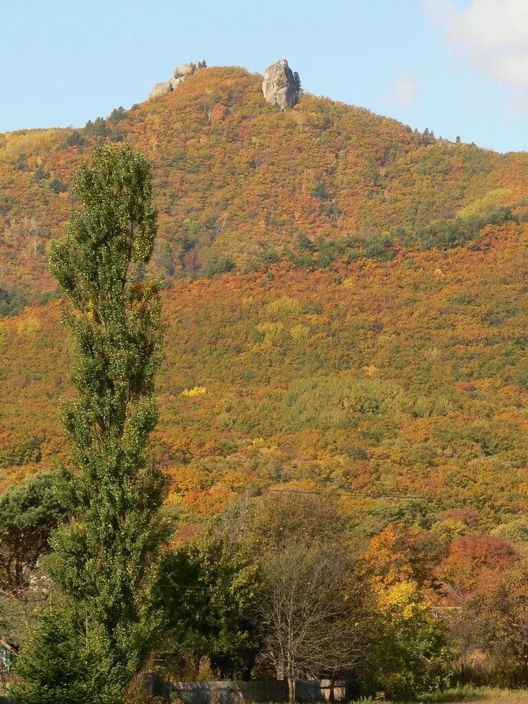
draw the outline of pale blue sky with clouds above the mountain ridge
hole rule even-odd
[[[178,63],[278,58],[306,92],[528,149],[528,0],[0,0],[0,132],[80,127]]]

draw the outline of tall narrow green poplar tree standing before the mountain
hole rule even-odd
[[[43,693],[46,702],[62,702],[65,691],[121,702],[164,622],[165,479],[147,451],[157,420],[160,302],[156,284],[137,275],[156,237],[149,163],[127,144],[103,146],[77,171],[73,193],[82,208],[54,245],[50,268],[77,343],[77,396],[62,414],[77,471],[61,474],[70,521],[54,534],[46,572],[63,596],[58,633],[64,640],[70,624],[68,642],[78,653],[75,672],[65,663],[53,672],[36,668],[33,676],[27,660],[38,658],[35,642],[57,632],[56,619],[43,619],[19,658],[25,679],[15,694],[22,704]]]

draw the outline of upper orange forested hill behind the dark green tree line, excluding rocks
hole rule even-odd
[[[281,113],[260,82],[241,68],[201,69],[173,92],[79,130],[0,135],[4,308],[54,289],[49,240],[63,231],[76,165],[100,142],[127,139],[151,160],[155,265],[168,277],[249,272],[279,258],[325,268],[463,244],[482,222],[467,232],[446,230],[446,220],[482,218],[525,197],[525,153],[437,140],[309,94]],[[440,231],[427,232],[434,221]]]

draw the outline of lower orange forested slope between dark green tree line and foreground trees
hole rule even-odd
[[[374,527],[460,506],[493,527],[523,510],[527,238],[528,225],[507,225],[497,246],[346,277],[277,265],[273,277],[175,282],[155,439],[172,505],[194,522],[240,491],[286,484],[343,492]],[[58,305],[4,319],[0,351],[5,486],[63,455],[56,405],[71,360]]]

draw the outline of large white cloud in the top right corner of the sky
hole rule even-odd
[[[528,87],[528,0],[425,0],[451,43],[496,80]]]

